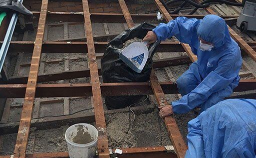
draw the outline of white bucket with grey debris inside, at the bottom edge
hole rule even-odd
[[[69,156],[74,158],[96,157],[98,134],[98,130],[91,124],[71,125],[65,133]]]

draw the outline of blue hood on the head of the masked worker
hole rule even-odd
[[[215,48],[231,42],[226,22],[217,15],[206,15],[197,29],[197,34],[205,41],[213,43]]]

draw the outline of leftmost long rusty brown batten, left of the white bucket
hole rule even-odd
[[[25,153],[26,153],[31,118],[32,118],[32,111],[33,111],[33,104],[34,104],[34,99],[36,94],[38,68],[40,64],[42,43],[43,43],[43,37],[44,37],[47,7],[48,7],[48,0],[42,0],[41,13],[40,13],[40,18],[38,23],[38,31],[37,31],[34,50],[33,50],[28,84],[26,88],[24,105],[22,109],[21,122],[20,122],[19,131],[18,131],[15,151],[14,151],[15,157],[25,157]]]

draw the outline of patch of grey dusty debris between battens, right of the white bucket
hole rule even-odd
[[[131,114],[130,124],[129,112],[106,115],[109,146],[127,148],[171,145],[167,129],[158,117],[158,109],[136,114],[134,122]]]

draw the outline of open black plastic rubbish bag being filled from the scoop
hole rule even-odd
[[[148,31],[155,28],[149,23],[141,23],[133,28],[123,31],[121,34],[112,39],[106,48],[106,51],[101,59],[101,71],[103,82],[145,82],[148,81],[152,64],[153,55],[160,44],[160,41],[150,44],[149,57],[140,73],[135,72],[127,66],[120,58],[119,53],[124,47],[123,43],[135,37],[143,39]],[[124,108],[139,101],[144,95],[129,95],[129,96],[106,96],[105,102],[108,109]]]

